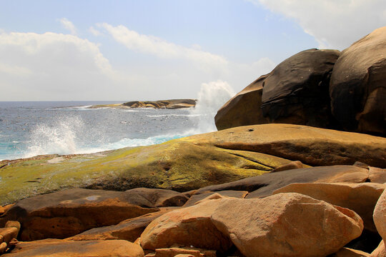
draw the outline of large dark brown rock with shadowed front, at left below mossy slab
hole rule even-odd
[[[67,238],[90,228],[159,211],[138,193],[68,189],[25,198],[0,218],[21,223],[21,241]]]

